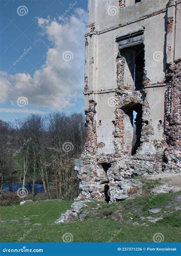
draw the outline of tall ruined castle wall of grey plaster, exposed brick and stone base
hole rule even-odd
[[[134,175],[179,171],[180,5],[89,0],[80,197],[123,200],[141,194]]]

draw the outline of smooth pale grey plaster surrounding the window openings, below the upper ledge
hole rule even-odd
[[[159,17],[158,17],[159,16]],[[149,106],[151,107],[151,112],[155,112],[155,116],[157,118],[155,119],[155,123],[158,125],[158,121],[164,119],[164,113],[163,113],[163,101],[162,96],[164,94],[164,88],[156,89],[155,86],[157,83],[161,83],[165,77],[165,73],[163,72],[164,66],[162,61],[162,55],[160,56],[160,53],[164,52],[164,40],[165,40],[165,20],[164,20],[165,14],[161,13],[160,15],[156,15],[152,18],[145,19],[143,21],[137,21],[136,24],[133,26],[132,24],[128,25],[126,28],[118,28],[117,30],[109,31],[107,33],[102,33],[99,36],[92,35],[91,39],[89,38],[89,46],[86,47],[86,51],[89,51],[89,58],[86,59],[86,63],[89,66],[89,76],[90,79],[88,79],[88,83],[90,84],[90,87],[88,87],[89,91],[94,90],[96,101],[97,101],[97,141],[99,143],[104,143],[105,148],[102,147],[103,144],[101,144],[101,148],[98,148],[99,153],[109,153],[113,152],[113,150],[108,150],[110,147],[112,148],[112,141],[113,141],[113,135],[114,132],[114,126],[112,121],[115,119],[114,112],[115,112],[115,90],[117,88],[117,63],[116,58],[118,55],[118,43],[115,42],[115,38],[118,35],[125,35],[128,33],[132,33],[135,31],[136,28],[145,28],[144,32],[144,45],[145,45],[145,72],[147,74],[147,80],[149,81],[149,84],[145,91],[148,94],[148,97],[145,99]],[[154,27],[153,24],[156,24]],[[159,37],[158,32],[159,31]],[[154,35],[154,36],[153,36]],[[155,40],[155,38],[157,40]],[[95,39],[94,39],[95,38]],[[98,40],[99,38],[99,40]],[[92,53],[92,44],[94,45],[96,40],[97,50],[94,50],[93,56],[91,56]],[[152,47],[151,47],[151,46]],[[90,50],[91,48],[91,50]],[[160,58],[160,61],[155,61],[153,58],[153,55],[155,53],[155,49],[157,50],[155,58]],[[95,59],[95,52],[97,56],[97,63],[93,63],[93,61],[90,61],[92,59]],[[105,54],[106,53],[106,54]],[[158,55],[158,56],[157,56]],[[125,70],[126,69],[126,70]],[[109,70],[109,71],[108,71]],[[127,71],[127,72],[126,72]],[[133,79],[129,83],[129,68],[125,67],[124,65],[124,71],[122,74],[120,73],[119,76],[124,76],[124,85],[130,85],[133,84]],[[125,77],[127,79],[125,79]],[[126,83],[127,82],[127,83]],[[92,84],[93,83],[93,84]],[[162,84],[164,87],[164,85]],[[127,88],[126,88],[127,89]],[[99,92],[107,92],[99,94]],[[159,106],[154,106],[154,99],[155,99],[155,92],[158,92],[156,94],[157,100],[159,101]],[[153,96],[152,96],[153,95]],[[164,96],[163,96],[164,97]],[[162,105],[161,105],[162,104]],[[154,114],[153,114],[154,115]],[[125,117],[126,118],[126,117]],[[150,118],[149,118],[150,119]],[[99,124],[99,121],[101,120],[101,125]],[[153,119],[152,119],[153,120]],[[159,139],[162,140],[162,132],[160,132],[160,129],[157,129],[157,125],[154,127],[156,129],[157,136],[159,136]],[[105,129],[107,130],[105,134]],[[163,129],[162,129],[163,131]],[[156,138],[158,139],[158,138]],[[154,138],[150,143],[152,144]],[[146,145],[147,150],[149,150],[149,145]]]

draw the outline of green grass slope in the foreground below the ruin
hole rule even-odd
[[[106,216],[107,219],[95,218],[95,220],[58,225],[55,225],[54,221],[60,217],[61,213],[70,209],[72,201],[40,201],[24,205],[3,206],[0,207],[0,241],[16,242],[31,228],[32,230],[22,242],[62,242],[62,236],[65,233],[71,233],[74,242],[107,242],[110,239],[114,242],[152,242],[155,233],[162,233],[165,242],[177,242],[180,229],[179,215],[176,212],[156,223],[148,223],[147,226],[134,226],[130,223],[133,207],[139,206],[142,209],[138,216],[134,213],[134,222],[139,220],[139,216],[144,216],[149,208],[169,204],[176,194],[178,193],[160,194],[151,202],[149,201],[150,197],[138,197],[111,205],[101,203],[98,212],[100,216],[103,218]],[[108,218],[108,216],[114,215],[114,210],[117,210],[116,204],[121,204],[123,207],[121,213],[124,217],[127,216],[127,219],[125,218],[121,223]],[[40,216],[31,217],[31,215]],[[24,218],[31,218],[29,221],[31,224],[25,225]],[[20,223],[10,220],[19,220]],[[42,223],[42,225],[34,226],[35,223]]]

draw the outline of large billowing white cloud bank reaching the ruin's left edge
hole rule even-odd
[[[3,88],[0,100],[5,103],[5,98],[8,98],[12,102],[24,96],[28,104],[37,108],[58,109],[75,92],[76,98],[83,97],[86,11],[76,8],[74,15],[61,21],[40,17],[38,24],[54,47],[48,49],[45,64],[33,76],[4,73],[0,78]],[[63,59],[65,51],[73,54],[70,61]]]

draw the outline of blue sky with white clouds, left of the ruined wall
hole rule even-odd
[[[83,112],[87,0],[0,5],[0,119]]]

